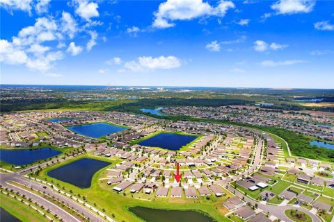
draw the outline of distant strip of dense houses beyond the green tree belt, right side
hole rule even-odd
[[[182,114],[205,119],[228,119],[239,123],[259,126],[287,128],[296,133],[303,133],[321,139],[334,140],[331,126],[334,124],[333,112],[315,111],[280,111],[267,112],[263,105],[232,105],[213,107],[170,107],[164,112]]]

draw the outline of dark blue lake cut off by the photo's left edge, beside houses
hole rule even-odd
[[[56,151],[53,148],[43,147],[37,149],[0,149],[0,160],[15,165],[31,164],[38,160],[45,160],[49,157],[61,154],[61,151]]]

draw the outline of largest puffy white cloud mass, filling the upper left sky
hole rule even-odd
[[[5,2],[6,1],[6,6]],[[16,4],[21,7],[25,1],[0,0],[3,8]],[[38,13],[47,12],[48,0],[33,0],[33,8]],[[26,1],[29,5],[31,1]],[[74,7],[80,4],[90,4],[88,1],[74,1]],[[23,6],[22,6],[23,7]],[[14,5],[12,7],[12,10]],[[23,10],[23,9],[21,9]],[[12,37],[11,42],[1,40],[1,63],[9,65],[25,65],[29,69],[37,69],[46,72],[56,64],[57,60],[62,60],[65,51],[77,56],[83,51],[82,46],[77,46],[73,38],[77,33],[88,33],[86,49],[90,51],[97,44],[97,32],[93,30],[95,26],[103,23],[99,21],[85,22],[88,26],[78,27],[76,19],[69,12],[56,13],[55,16],[38,17],[35,23],[22,28],[17,35]],[[68,45],[68,47],[66,47]]]

